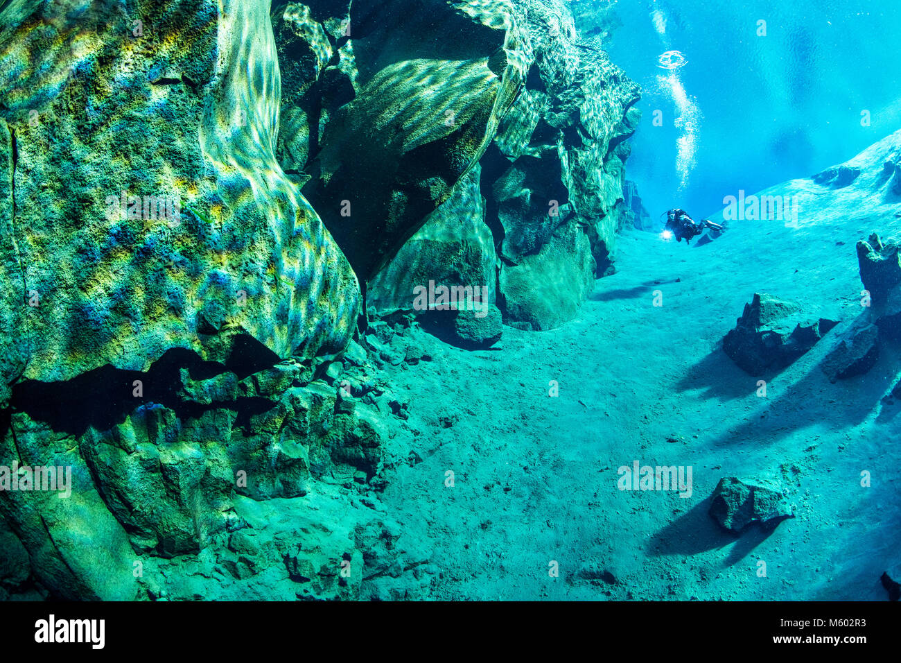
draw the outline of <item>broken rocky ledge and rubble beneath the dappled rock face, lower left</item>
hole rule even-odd
[[[295,362],[245,375],[176,349],[146,375],[15,385],[0,454],[72,475],[66,497],[0,494],[11,549],[19,540],[32,556],[29,582],[107,600],[239,598],[260,583],[282,600],[382,591],[363,582],[376,553],[359,535],[396,529],[372,511],[392,397],[354,347],[324,381]],[[123,401],[136,376],[146,391]],[[392,565],[397,554],[378,553]],[[25,585],[16,569],[5,575]]]

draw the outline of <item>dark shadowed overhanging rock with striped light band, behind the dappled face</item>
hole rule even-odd
[[[284,15],[282,33],[292,39],[303,32],[297,5]],[[304,190],[359,278],[369,280],[485,152],[525,67],[505,3],[335,4],[347,5],[350,34],[320,71],[324,87],[341,87],[350,99],[318,114],[324,130]],[[305,33],[315,51],[318,32]],[[309,143],[303,133],[296,140]],[[286,149],[301,152],[292,143]]]

